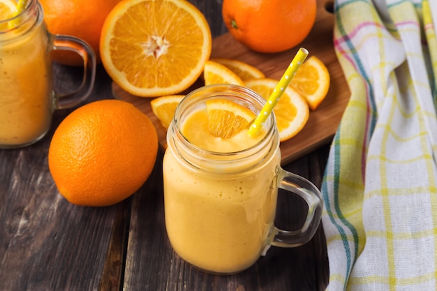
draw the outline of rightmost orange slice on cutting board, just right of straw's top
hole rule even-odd
[[[320,59],[311,56],[297,70],[290,86],[304,96],[311,110],[316,110],[329,90],[329,72]]]

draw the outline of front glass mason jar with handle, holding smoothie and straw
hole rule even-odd
[[[214,98],[233,100],[255,114],[265,104],[250,89],[225,84],[201,87],[182,100],[168,128],[163,160],[165,225],[173,249],[186,262],[232,274],[254,264],[269,246],[309,241],[320,223],[323,202],[310,181],[281,168],[274,114],[263,125],[265,135],[241,151],[207,151],[188,141],[181,130],[184,122]],[[308,204],[300,230],[274,226],[278,188]]]

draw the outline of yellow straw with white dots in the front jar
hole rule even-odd
[[[278,102],[279,98],[281,98],[283,92],[286,91],[288,84],[290,83],[292,77],[294,77],[297,69],[306,59],[306,56],[308,56],[308,50],[306,50],[304,47],[299,48],[299,51],[292,59],[290,66],[288,66],[286,73],[283,74],[281,80],[279,80],[279,83],[276,85],[276,88],[267,99],[267,103],[265,103],[264,107],[262,107],[260,114],[258,114],[258,117],[256,117],[255,121],[253,121],[253,124],[249,128],[248,133],[251,135],[251,137],[254,137],[258,134],[262,128],[262,124],[264,124],[267,117],[272,114],[274,106]]]

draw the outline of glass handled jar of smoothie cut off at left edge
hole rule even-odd
[[[77,91],[64,96],[54,92],[52,50],[77,52],[84,60]],[[0,73],[0,149],[24,147],[47,133],[54,110],[73,107],[89,96],[96,57],[83,40],[50,34],[40,3],[29,0],[22,13],[0,20]]]

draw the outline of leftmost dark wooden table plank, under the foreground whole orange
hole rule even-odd
[[[54,68],[57,80],[69,80],[59,82],[64,90],[76,87],[75,76],[80,82],[82,69]],[[112,97],[102,68],[97,80],[89,102]],[[114,220],[126,205],[79,207],[58,193],[47,153],[54,129],[69,112],[55,112],[50,132],[36,144],[0,150],[0,290],[98,290],[100,285]]]

